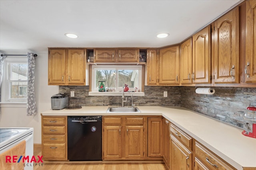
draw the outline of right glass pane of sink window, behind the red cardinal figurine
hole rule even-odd
[[[118,88],[128,84],[129,88],[138,87],[138,70],[118,70]]]

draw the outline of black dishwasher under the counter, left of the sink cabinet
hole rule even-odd
[[[68,160],[102,160],[101,129],[101,116],[68,116]]]

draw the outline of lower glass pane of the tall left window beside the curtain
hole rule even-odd
[[[27,82],[10,82],[10,98],[27,98]]]

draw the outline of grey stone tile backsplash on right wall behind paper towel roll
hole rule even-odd
[[[243,114],[256,106],[256,88],[214,87],[213,95],[196,94],[195,87],[180,87],[182,107],[243,127]]]

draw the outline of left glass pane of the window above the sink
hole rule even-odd
[[[105,87],[115,88],[116,86],[116,70],[96,70],[96,87],[99,81],[105,81]]]

